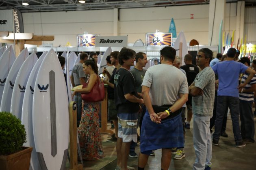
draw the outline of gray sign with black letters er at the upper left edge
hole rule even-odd
[[[0,10],[0,31],[13,31],[13,10]]]

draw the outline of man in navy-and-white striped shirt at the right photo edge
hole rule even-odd
[[[247,57],[242,57],[240,62],[248,67],[251,64]],[[241,83],[246,81],[248,75],[247,73],[243,75]],[[245,85],[239,94],[241,136],[244,143],[254,143],[254,119],[252,114],[254,91],[256,91],[256,74],[254,74],[252,80]]]

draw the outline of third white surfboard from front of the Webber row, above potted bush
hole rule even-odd
[[[22,64],[13,87],[13,94],[11,96],[11,113],[21,120],[22,117],[22,103],[28,77],[30,72],[37,62],[37,55],[35,52],[31,53]]]

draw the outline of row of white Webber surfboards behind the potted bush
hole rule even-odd
[[[77,59],[74,55],[69,56]],[[33,147],[30,170],[65,169],[69,100],[55,51],[38,59],[25,48],[16,58],[12,46],[0,48],[0,101],[0,111],[11,112],[25,125],[24,145]]]

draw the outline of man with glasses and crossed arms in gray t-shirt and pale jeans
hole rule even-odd
[[[189,86],[189,94],[193,96],[193,143],[196,156],[193,170],[210,169],[212,165],[210,118],[213,114],[215,96],[215,73],[209,66],[212,58],[213,51],[210,49],[204,48],[198,51],[196,63],[202,71]]]

